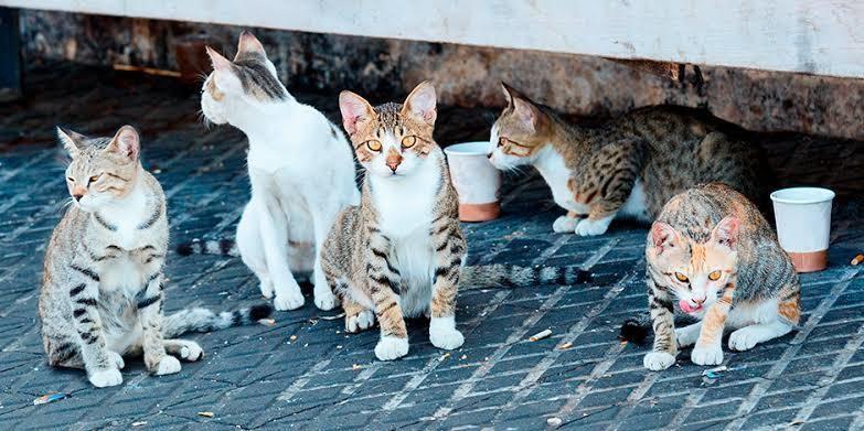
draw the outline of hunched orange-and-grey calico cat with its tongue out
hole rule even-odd
[[[801,316],[801,283],[789,255],[757,207],[727,185],[696,186],[663,206],[646,259],[651,322],[629,320],[621,334],[640,342],[653,327],[648,369],[668,368],[679,347],[694,344],[694,364],[719,364],[725,328],[735,330],[729,348],[747,351],[788,334]],[[674,309],[698,322],[676,330]]]

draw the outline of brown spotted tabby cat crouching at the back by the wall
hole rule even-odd
[[[502,84],[508,107],[492,126],[489,158],[501,170],[533,165],[567,209],[552,228],[602,235],[615,217],[650,223],[672,196],[717,181],[760,196],[760,153],[694,110],[651,107],[600,127],[569,123]]]

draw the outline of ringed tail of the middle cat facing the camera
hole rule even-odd
[[[480,265],[462,268],[461,289],[527,288],[537,284],[579,284],[591,281],[591,273],[579,267],[522,267]]]

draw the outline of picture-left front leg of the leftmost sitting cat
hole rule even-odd
[[[97,309],[99,276],[84,265],[73,265],[72,268],[82,274],[81,283],[70,289],[70,300],[72,324],[78,334],[78,348],[87,378],[97,388],[117,386],[122,382],[122,376],[117,357],[109,353],[106,345]]]

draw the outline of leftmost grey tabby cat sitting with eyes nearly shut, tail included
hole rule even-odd
[[[66,183],[73,206],[45,251],[39,316],[52,366],[84,368],[96,387],[122,381],[122,356],[143,354],[156,375],[198,360],[198,343],[175,336],[265,319],[269,305],[215,314],[204,309],[162,315],[168,247],[166,196],[139,159],[131,126],[114,138],[57,128],[72,157]]]

